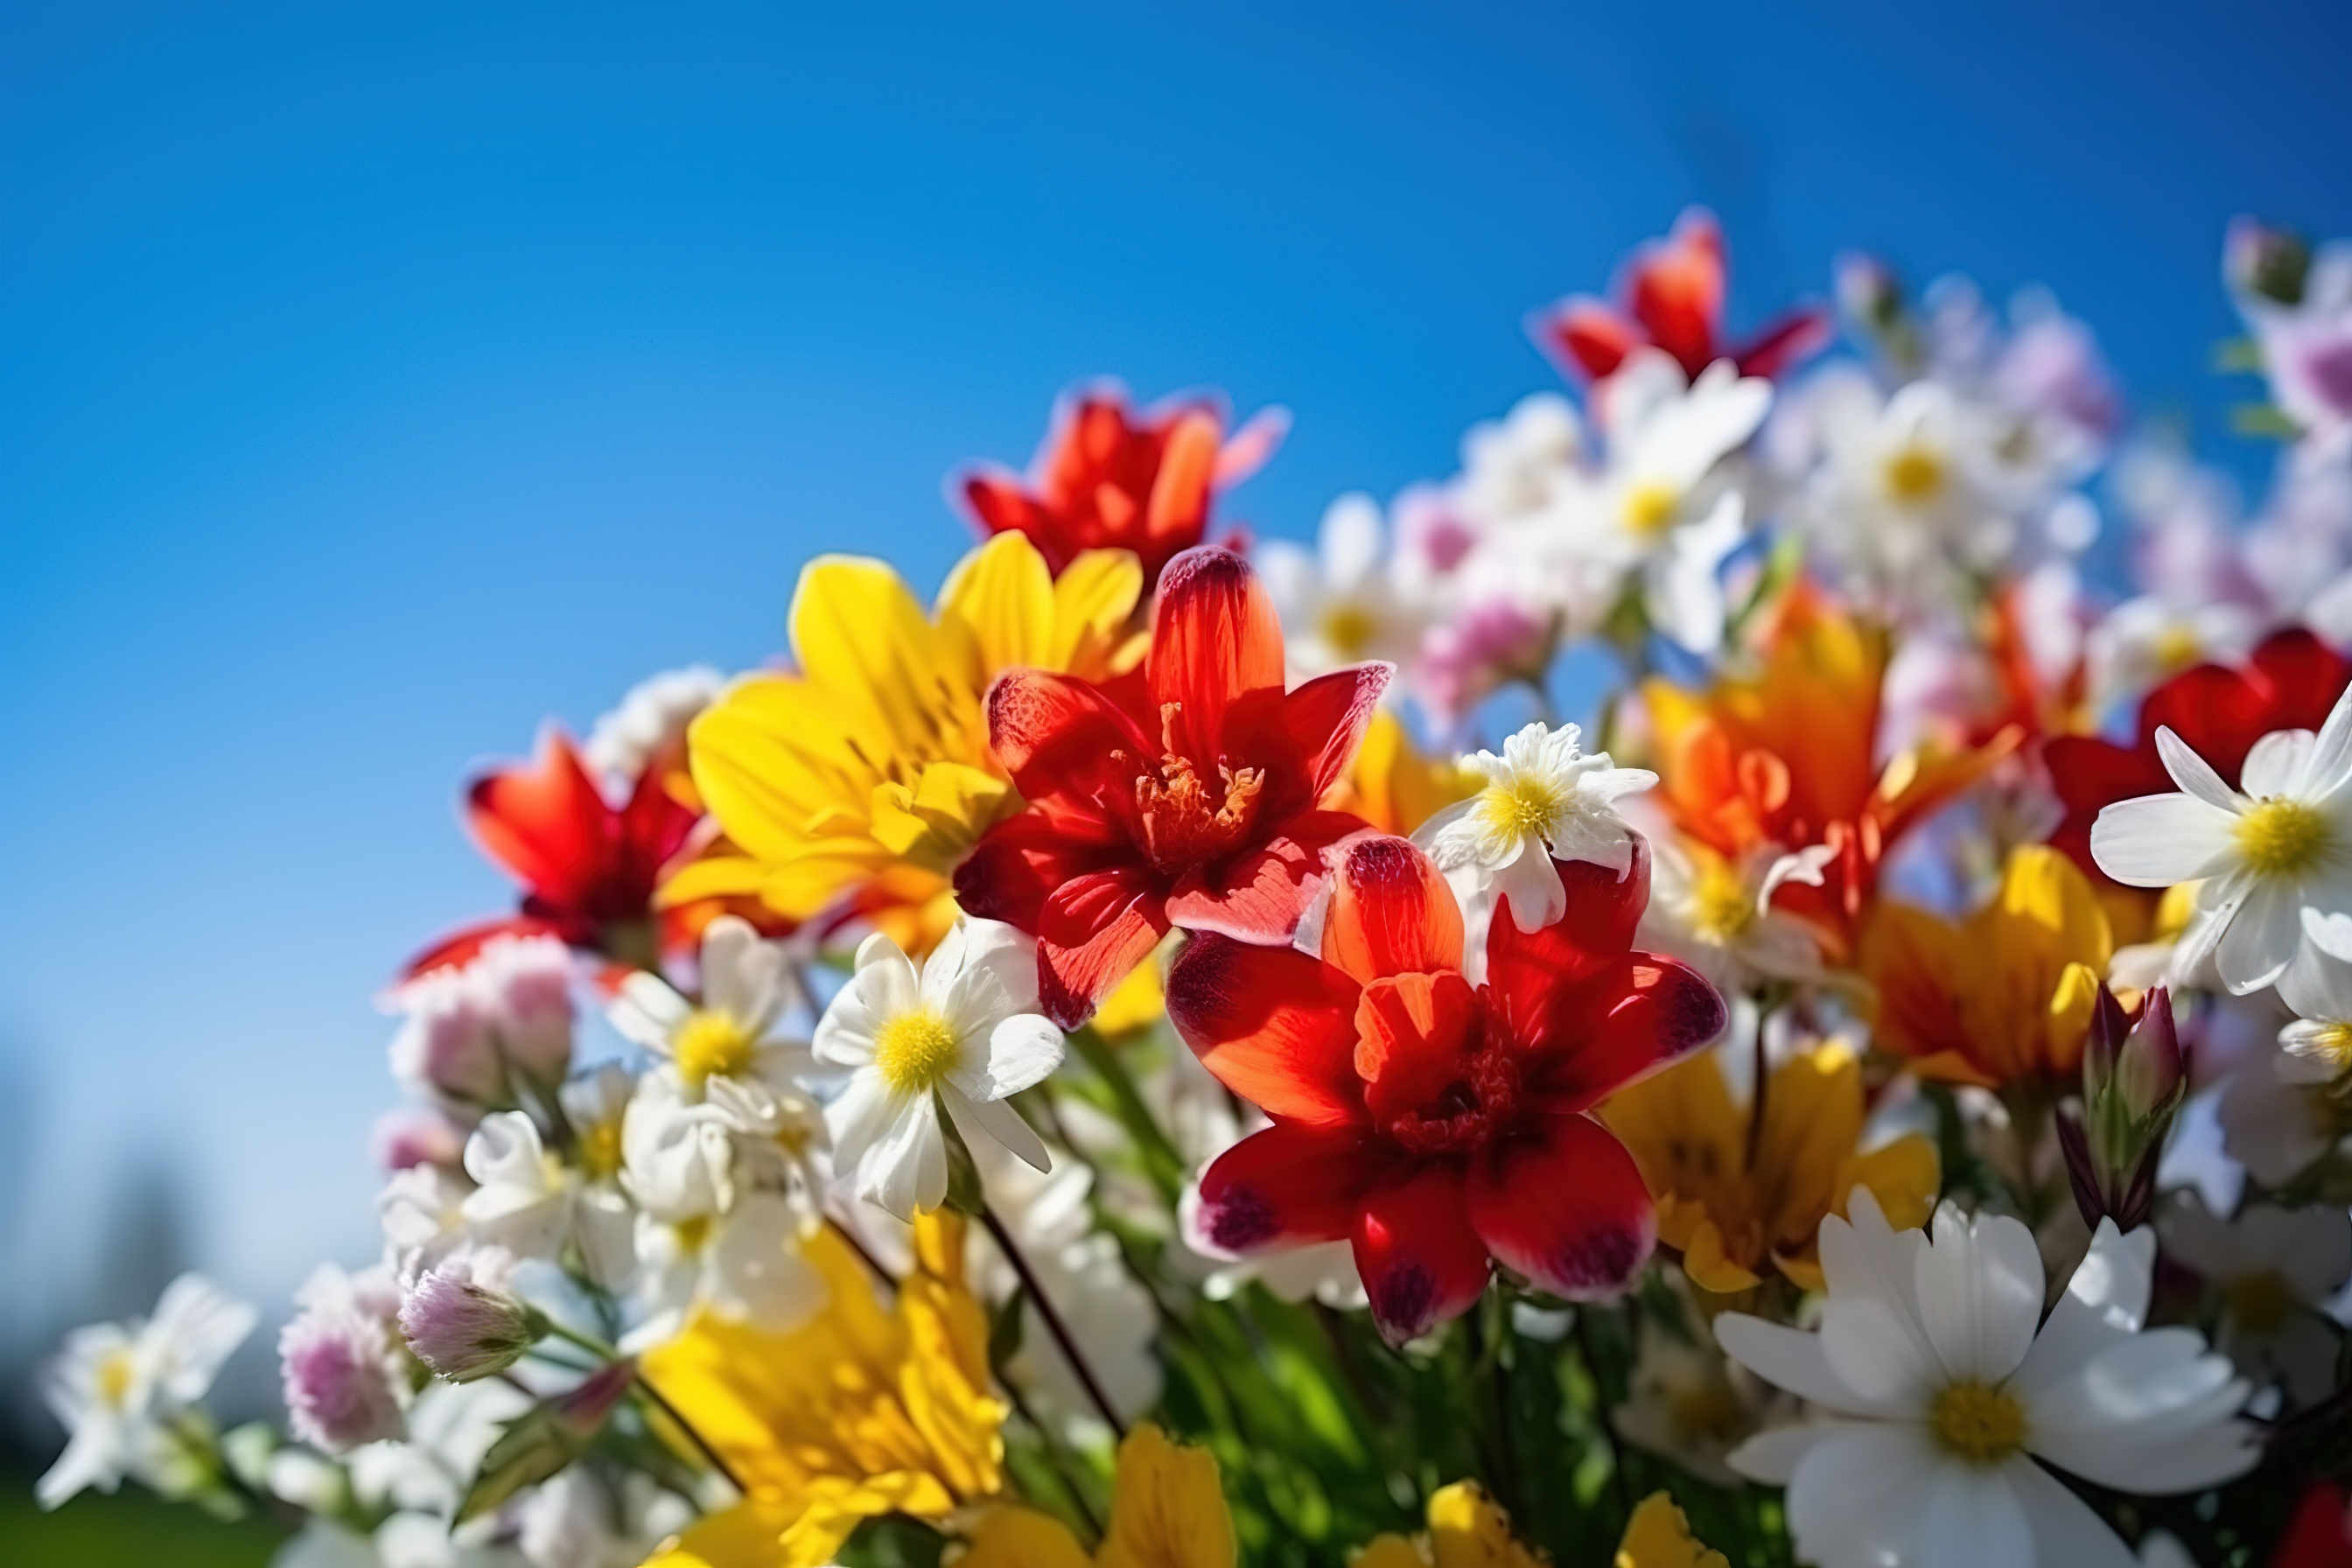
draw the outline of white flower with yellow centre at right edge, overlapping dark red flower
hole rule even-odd
[[[2303,940],[2303,907],[2352,910],[2352,701],[2314,738],[2279,729],[2253,743],[2232,790],[2171,729],[2157,755],[2178,795],[2143,795],[2091,823],[2091,858],[2117,882],[2204,882],[2176,971],[2206,954],[2246,994],[2279,978]]]

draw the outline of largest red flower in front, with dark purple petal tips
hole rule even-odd
[[[1621,1293],[1658,1218],[1588,1112],[1724,1027],[1696,971],[1632,952],[1635,844],[1623,877],[1562,860],[1569,910],[1543,931],[1498,910],[1479,987],[1454,893],[1409,839],[1338,851],[1319,959],[1195,936],[1169,1018],[1275,1121],[1202,1175],[1197,1237],[1232,1255],[1352,1241],[1395,1345],[1468,1309],[1494,1262],[1569,1300]]]

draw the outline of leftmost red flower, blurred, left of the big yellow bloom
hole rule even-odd
[[[407,973],[463,964],[494,936],[557,936],[574,947],[649,964],[656,952],[654,886],[701,813],[677,802],[654,757],[628,804],[612,806],[572,741],[555,726],[529,764],[492,769],[466,788],[466,825],[482,853],[522,884],[522,907],[449,933],[409,959]]]

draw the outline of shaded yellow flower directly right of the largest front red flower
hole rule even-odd
[[[1771,1267],[1820,1291],[1820,1220],[1844,1218],[1858,1185],[1898,1229],[1926,1222],[1938,1187],[1936,1143],[1910,1133],[1867,1154],[1856,1150],[1863,1072],[1844,1046],[1816,1046],[1773,1070],[1764,1126],[1752,1128],[1755,1159],[1750,1119],[1712,1051],[1616,1093],[1602,1110],[1658,1199],[1658,1239],[1682,1251],[1682,1272],[1700,1291],[1748,1291]]]

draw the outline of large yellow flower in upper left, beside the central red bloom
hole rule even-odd
[[[743,677],[687,731],[724,842],[670,877],[663,903],[755,896],[811,919],[851,900],[927,952],[953,922],[948,872],[1021,804],[988,752],[990,682],[1131,663],[1141,590],[1127,550],[1089,550],[1056,578],[1021,534],[967,555],[936,616],[877,559],[809,562],[790,616],[800,672]]]

